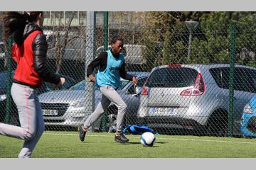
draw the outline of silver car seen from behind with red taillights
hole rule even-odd
[[[228,64],[174,64],[155,67],[142,88],[140,124],[164,132],[228,133]],[[235,66],[233,134],[240,135],[242,109],[256,93],[256,69]],[[168,130],[168,131],[166,131]]]

